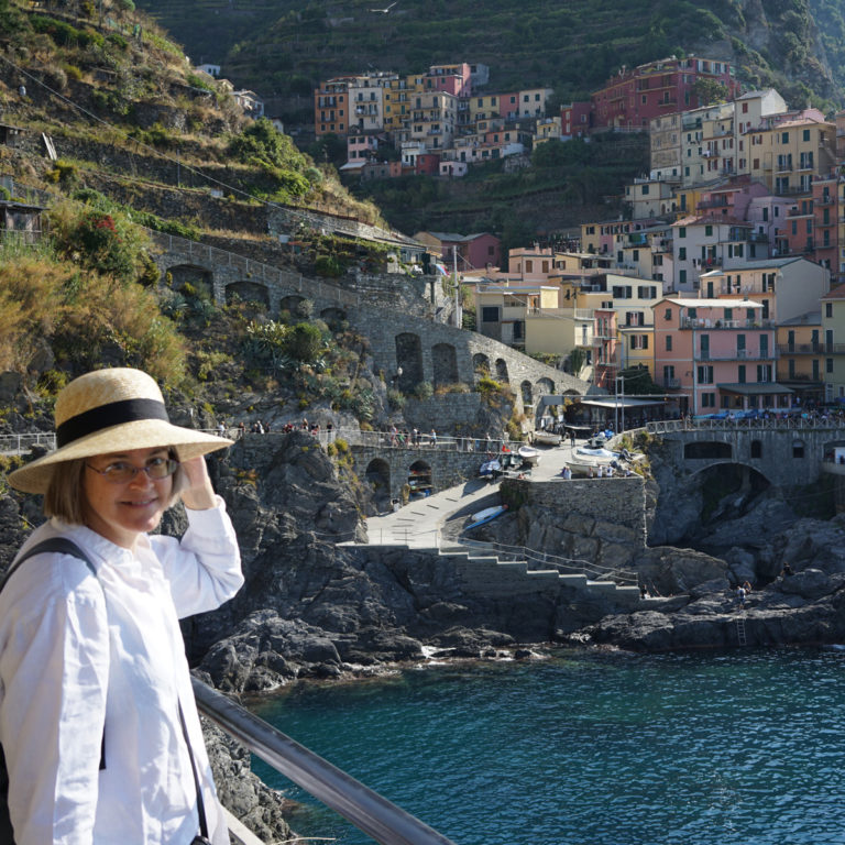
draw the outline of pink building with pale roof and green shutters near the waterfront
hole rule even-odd
[[[682,413],[777,410],[775,323],[755,301],[666,297],[655,304],[655,380]]]

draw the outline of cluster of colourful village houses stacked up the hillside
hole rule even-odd
[[[647,371],[683,413],[845,402],[845,112],[740,91],[728,63],[699,56],[623,68],[558,114],[550,89],[490,91],[486,73],[435,65],[315,91],[317,134],[347,138],[362,178],[462,176],[538,143],[648,132],[622,215],[583,223],[571,251],[511,250],[501,270],[489,233],[417,233],[474,283],[479,331],[611,391]],[[385,144],[398,161],[378,162]]]

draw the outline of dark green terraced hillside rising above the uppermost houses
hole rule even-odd
[[[567,101],[622,64],[691,52],[731,59],[749,86],[775,85],[794,106],[842,101],[845,63],[835,45],[845,24],[831,0],[527,0],[518,13],[509,0],[485,0],[483,14],[474,0],[398,0],[386,14],[371,11],[378,6],[139,1],[195,61],[221,64],[294,121],[307,117],[319,79],[370,67],[407,74],[480,62],[493,68],[492,88],[547,85]]]

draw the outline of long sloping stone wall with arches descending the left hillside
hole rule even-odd
[[[508,384],[526,415],[539,409],[540,396],[605,393],[588,382],[547,366],[500,341],[445,325],[449,310],[434,277],[356,274],[344,286],[305,277],[226,250],[153,232],[154,255],[174,288],[204,282],[219,304],[241,299],[264,304],[272,316],[309,299],[327,321],[348,320],[370,339],[376,370],[403,392],[420,382],[474,384],[489,373]]]

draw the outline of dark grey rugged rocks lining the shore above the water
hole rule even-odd
[[[274,443],[249,465],[238,445],[210,461],[238,531],[246,584],[219,611],[187,621],[184,630],[196,671],[222,691],[266,693],[301,681],[373,678],[432,657],[533,659],[560,646],[735,648],[740,617],[747,647],[845,643],[845,515],[799,518],[769,493],[747,503],[740,518],[703,527],[701,546],[718,555],[627,548],[625,567],[656,595],[670,596],[634,608],[566,586],[484,596],[461,582],[448,557],[342,545],[365,537],[366,491],[309,434],[294,431]],[[647,497],[657,534],[670,524],[658,505],[665,494],[674,496],[655,485]],[[692,494],[688,500],[694,504]],[[37,522],[32,498],[0,497],[3,568]],[[184,514],[169,512],[163,530],[183,528]],[[618,530],[600,516],[564,522],[535,505],[485,528],[519,545],[530,531],[533,542],[552,552],[585,544],[586,534],[591,542],[606,535],[621,548]],[[794,574],[780,574],[787,562]],[[739,610],[734,586],[745,580],[754,590]],[[227,805],[260,836],[289,837],[284,795],[252,778],[246,753],[219,732],[207,736]]]

